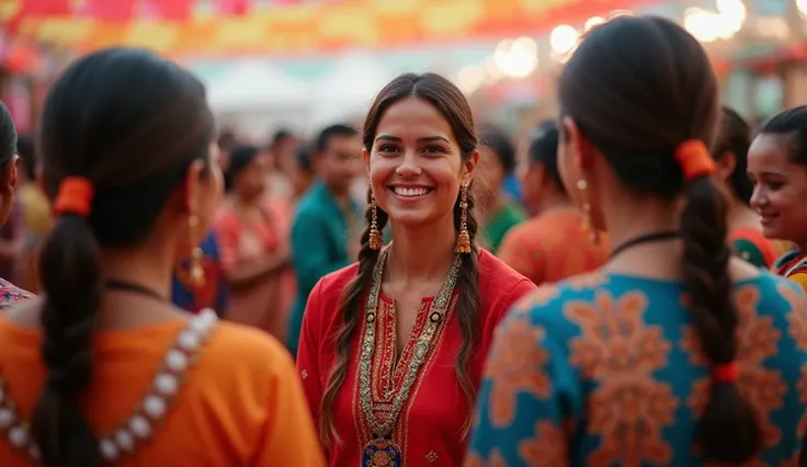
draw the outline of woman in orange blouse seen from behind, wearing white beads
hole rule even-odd
[[[0,315],[0,465],[322,466],[282,346],[170,300],[221,192],[202,83],[145,50],[102,50],[65,72],[42,118],[57,218],[43,298]]]

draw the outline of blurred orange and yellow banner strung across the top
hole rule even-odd
[[[194,9],[185,21],[112,22],[93,19],[92,15],[20,15],[24,1],[2,1],[0,22],[15,19],[18,33],[25,36],[79,50],[112,45],[143,46],[172,56],[300,55],[349,47],[383,49],[518,35],[535,36],[559,23],[582,23],[592,15],[648,2],[346,0],[252,8],[246,14],[232,15],[217,15],[213,11]],[[70,3],[81,1],[70,0]]]

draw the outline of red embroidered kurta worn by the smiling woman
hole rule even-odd
[[[493,329],[520,297],[536,288],[530,280],[485,250],[479,253],[479,344],[469,367],[469,376],[475,385],[479,384],[481,365],[488,353]],[[333,335],[341,324],[339,298],[344,286],[355,276],[356,270],[357,265],[353,264],[325,276],[308,298],[297,354],[297,371],[303,378],[315,420],[319,420],[322,392],[336,361]],[[380,294],[376,318],[376,348],[371,372],[371,392],[375,406],[382,405],[383,408],[385,402],[390,403],[401,386],[406,368],[412,358],[416,339],[427,324],[431,301],[431,298],[423,299],[410,340],[404,346],[399,362],[394,365],[396,320],[393,300]],[[468,407],[454,369],[463,340],[455,303],[456,292],[446,324],[439,328],[432,341],[393,433],[393,440],[401,448],[404,465],[407,467],[462,465],[466,444],[463,428],[468,422],[471,408]],[[363,317],[365,310],[362,309],[361,312]],[[341,443],[331,443],[327,449],[328,464],[333,467],[360,467],[362,451],[371,441],[359,391],[359,346],[364,339],[366,322],[364,319],[359,322],[361,324],[351,343],[348,377],[332,415],[337,433],[341,437]],[[376,413],[384,417],[384,413]]]

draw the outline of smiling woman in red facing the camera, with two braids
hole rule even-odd
[[[475,243],[477,138],[451,81],[394,79],[363,135],[359,263],[311,292],[297,369],[330,466],[458,466],[492,330],[535,286]]]

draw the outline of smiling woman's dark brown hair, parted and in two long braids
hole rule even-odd
[[[375,98],[367,113],[367,118],[364,122],[363,140],[367,151],[373,148],[376,129],[384,113],[393,104],[407,98],[422,99],[440,111],[452,127],[454,138],[457,145],[459,145],[463,160],[468,160],[471,157],[477,149],[477,137],[474,133],[474,118],[470,113],[470,106],[456,86],[440,75],[434,73],[405,73],[395,78],[382,89]],[[459,328],[464,338],[457,357],[456,374],[463,392],[465,392],[468,399],[469,410],[474,406],[476,388],[468,376],[467,365],[479,332],[478,316],[480,307],[479,289],[477,287],[479,267],[477,264],[477,248],[474,243],[477,223],[473,215],[474,198],[471,193],[473,190],[469,189],[467,226],[468,234],[470,234],[473,252],[463,255],[463,264],[459,271],[459,277],[457,278],[459,298],[456,306]],[[370,201],[370,197],[371,193],[368,192],[367,201]],[[457,196],[457,201],[454,204],[454,228],[457,232],[459,231],[461,212],[459,196]],[[383,229],[389,220],[389,216],[380,208],[377,209],[377,216],[378,228]],[[378,251],[370,248],[370,220],[372,218],[370,208],[367,208],[365,217],[367,219],[367,227],[362,235],[362,249],[359,252],[359,273],[345,287],[340,299],[339,312],[343,322],[334,337],[337,363],[328,376],[328,383],[326,384],[322,396],[319,429],[320,436],[326,444],[329,444],[331,441],[339,441],[331,420],[333,405],[348,374],[351,338],[357,328],[359,314],[363,308],[362,300],[366,291],[370,288],[373,269],[378,260]],[[468,426],[469,423],[466,422],[464,433],[457,433],[457,435],[466,435]]]

